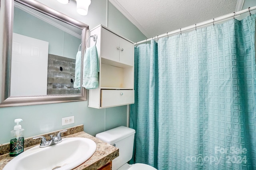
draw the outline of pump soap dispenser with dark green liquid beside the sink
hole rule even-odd
[[[24,136],[23,136],[24,129],[22,129],[21,125],[19,124],[21,121],[22,119],[14,120],[16,125],[11,131],[12,139],[10,140],[10,156],[17,156],[18,154],[22,153],[24,150]]]

